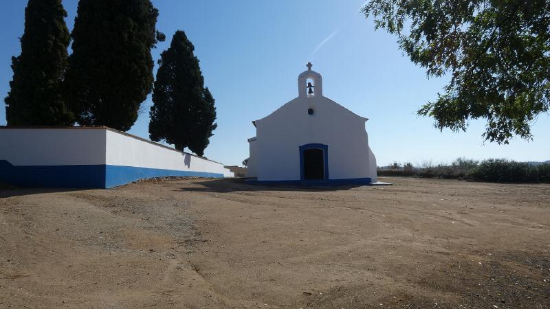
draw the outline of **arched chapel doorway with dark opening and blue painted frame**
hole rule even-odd
[[[329,147],[323,144],[300,146],[300,179],[320,181],[329,179]]]

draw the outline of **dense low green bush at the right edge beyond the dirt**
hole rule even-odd
[[[550,181],[550,164],[530,165],[504,159],[489,159],[472,170],[473,179],[495,183],[538,183]]]

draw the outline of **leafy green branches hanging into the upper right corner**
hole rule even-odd
[[[362,12],[398,38],[428,77],[450,73],[419,115],[440,130],[486,119],[485,139],[531,139],[531,121],[550,107],[550,1],[371,0]]]

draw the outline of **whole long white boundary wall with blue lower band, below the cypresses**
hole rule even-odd
[[[115,187],[158,176],[232,177],[223,164],[105,127],[0,128],[0,181]]]

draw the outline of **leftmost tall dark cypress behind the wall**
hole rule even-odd
[[[61,0],[30,0],[21,55],[12,57],[13,80],[5,98],[8,126],[74,124],[61,96],[70,36]]]

